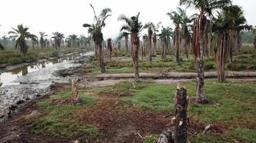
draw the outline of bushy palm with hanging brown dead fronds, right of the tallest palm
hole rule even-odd
[[[224,7],[224,11],[219,13],[217,19],[214,19],[213,44],[219,82],[224,82],[226,79],[225,62],[227,57],[232,55],[233,48],[237,44],[238,33],[242,29],[250,30],[250,26],[244,24],[245,21],[241,7],[236,5]]]

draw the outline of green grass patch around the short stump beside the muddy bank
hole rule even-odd
[[[93,106],[98,99],[82,92],[79,94],[83,100],[83,105],[81,106],[52,104],[54,100],[70,99],[71,92],[63,92],[51,96],[50,99],[38,102],[37,109],[44,116],[34,119],[34,122],[29,125],[32,132],[68,139],[95,139],[99,134],[98,129],[73,118],[73,113],[78,109]]]

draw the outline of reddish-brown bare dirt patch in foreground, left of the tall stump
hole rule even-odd
[[[142,137],[160,134],[168,127],[168,119],[152,111],[140,111],[131,104],[122,104],[118,95],[98,95],[101,100],[95,107],[76,112],[86,124],[100,129],[98,142],[142,142]]]

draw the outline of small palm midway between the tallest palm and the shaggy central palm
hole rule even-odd
[[[168,46],[168,37],[173,36],[173,29],[170,27],[163,27],[161,33],[157,36],[160,37],[162,43],[162,59],[165,59]]]

